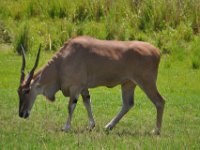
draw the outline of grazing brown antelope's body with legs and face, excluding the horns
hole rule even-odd
[[[68,130],[81,94],[89,116],[89,127],[93,128],[95,122],[88,89],[121,84],[122,109],[106,126],[107,129],[112,129],[133,106],[134,89],[139,85],[157,108],[155,133],[159,134],[164,109],[164,100],[156,87],[159,61],[159,50],[146,42],[105,41],[85,36],[71,39],[32,77],[29,85],[25,80],[21,82],[19,96],[24,95],[24,87],[30,87],[29,97],[21,98],[30,104],[26,109],[21,106],[19,113],[22,117],[26,116],[22,112],[29,114],[36,95],[43,94],[53,101],[55,93],[61,90],[65,96],[70,97],[69,117],[64,128]]]

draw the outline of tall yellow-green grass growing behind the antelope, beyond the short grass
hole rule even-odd
[[[29,49],[42,42],[46,50],[57,50],[69,38],[86,34],[147,41],[179,57],[200,34],[199,10],[199,0],[0,0],[0,19],[15,37],[16,51],[26,40],[35,43]]]

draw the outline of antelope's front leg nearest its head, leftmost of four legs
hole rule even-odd
[[[71,127],[71,120],[72,120],[72,114],[74,112],[74,109],[76,107],[78,99],[70,97],[69,104],[68,104],[68,119],[67,123],[64,128],[62,128],[62,131],[68,131]]]

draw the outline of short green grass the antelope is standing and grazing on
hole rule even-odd
[[[52,53],[41,55],[40,66]],[[34,62],[28,55],[28,68]],[[18,117],[21,57],[7,45],[0,46],[0,147],[1,149],[199,149],[200,70],[191,68],[190,59],[175,60],[163,55],[158,88],[166,99],[161,136],[150,135],[155,125],[155,107],[136,88],[135,107],[107,134],[103,127],[120,110],[120,87],[91,89],[96,127],[86,130],[87,113],[81,98],[74,113],[72,130],[63,133],[67,102],[60,92],[56,102],[39,96],[28,120]]]

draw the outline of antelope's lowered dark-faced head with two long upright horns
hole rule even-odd
[[[39,56],[40,56],[40,49],[41,44],[38,49],[37,58],[35,61],[35,65],[30,71],[30,73],[27,75],[25,79],[25,67],[26,67],[26,59],[25,59],[25,51],[23,46],[22,47],[22,67],[21,67],[21,79],[20,79],[20,85],[18,88],[18,95],[19,95],[19,116],[22,118],[27,118],[30,114],[31,108],[33,106],[33,103],[36,99],[36,89],[34,84],[32,84],[32,79],[34,75],[34,71],[37,68]]]

